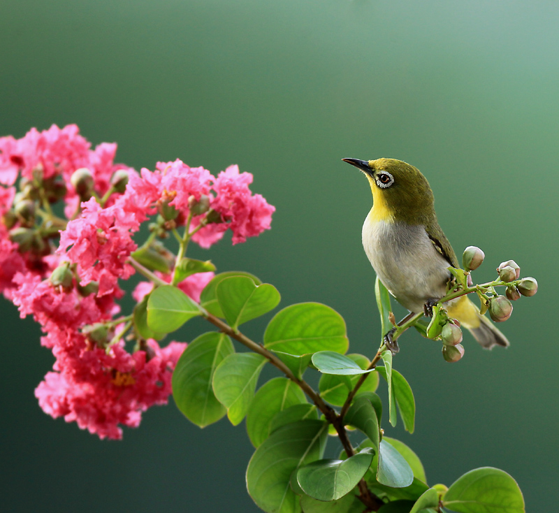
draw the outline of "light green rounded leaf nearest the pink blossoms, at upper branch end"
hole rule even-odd
[[[157,287],[147,300],[147,326],[158,333],[175,331],[200,314],[198,305],[172,285]]]

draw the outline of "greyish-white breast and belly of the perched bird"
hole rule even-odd
[[[435,250],[423,225],[373,221],[363,224],[363,248],[390,293],[411,312],[444,296],[449,263]]]

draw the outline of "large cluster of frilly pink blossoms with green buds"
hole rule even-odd
[[[186,224],[196,243],[210,247],[227,229],[233,244],[259,235],[275,210],[252,194],[252,175],[237,166],[215,178],[176,160],[138,174],[114,163],[116,149],[102,143],[92,150],[75,125],[0,138],[0,291],[21,317],[33,315],[41,324],[41,343],[56,357],[35,391],[43,410],[100,438],[121,438],[120,426],[138,426],[148,407],[167,403],[186,346],[161,348],[139,338],[129,352],[120,331],[129,317],[119,325],[113,320],[120,312],[115,299],[124,295],[119,280],[135,273],[130,257],[140,225],[163,213],[158,236]],[[92,182],[85,198],[71,182],[82,168]],[[111,180],[121,170],[128,184],[115,189]],[[50,213],[49,204],[59,200],[69,220]],[[156,274],[171,281],[171,274]],[[197,273],[178,287],[199,301],[213,276]],[[133,298],[142,301],[152,288],[140,282]]]

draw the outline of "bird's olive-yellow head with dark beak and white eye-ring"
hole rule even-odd
[[[419,169],[396,159],[342,160],[368,178],[376,220],[426,224],[433,217],[433,191]]]

